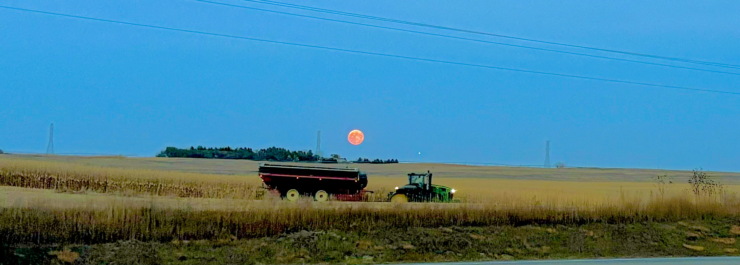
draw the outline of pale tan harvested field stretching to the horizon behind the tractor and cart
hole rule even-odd
[[[223,175],[256,175],[260,161],[203,158],[126,158],[80,157],[64,155],[0,155],[0,160],[50,161],[98,167],[118,167],[138,170],[164,170]],[[280,163],[283,164],[283,163]],[[306,165],[306,163],[284,163]],[[321,164],[322,167],[356,167],[371,177],[403,178],[410,172],[434,172],[444,178],[513,178],[551,181],[589,182],[650,182],[656,175],[687,178],[690,171],[531,167],[480,167],[457,164]],[[739,172],[710,172],[723,184],[740,184]]]

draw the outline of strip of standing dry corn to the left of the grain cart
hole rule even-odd
[[[255,198],[254,176],[70,167],[48,162],[0,163],[0,186],[122,195]]]

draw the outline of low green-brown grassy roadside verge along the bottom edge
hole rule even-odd
[[[738,255],[736,219],[552,226],[298,231],[272,237],[3,244],[0,264],[383,264]]]

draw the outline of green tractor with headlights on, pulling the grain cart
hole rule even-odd
[[[392,202],[453,202],[452,195],[455,189],[431,184],[431,173],[408,174],[408,184],[396,187],[396,191],[388,193],[388,201]],[[459,200],[454,200],[458,202]]]

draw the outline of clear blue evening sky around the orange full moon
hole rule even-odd
[[[215,1],[582,52],[248,1]],[[290,3],[740,64],[737,1]],[[740,92],[740,76],[190,0],[1,0],[0,5],[374,53]],[[56,152],[142,156],[169,146],[314,150],[316,132],[321,130],[325,152],[351,159],[542,164],[545,140],[551,140],[553,163],[740,171],[740,95],[386,58],[19,10],[0,9],[0,95],[3,150],[44,152],[50,123],[55,124]],[[365,132],[363,144],[353,146],[346,140],[353,129]]]

